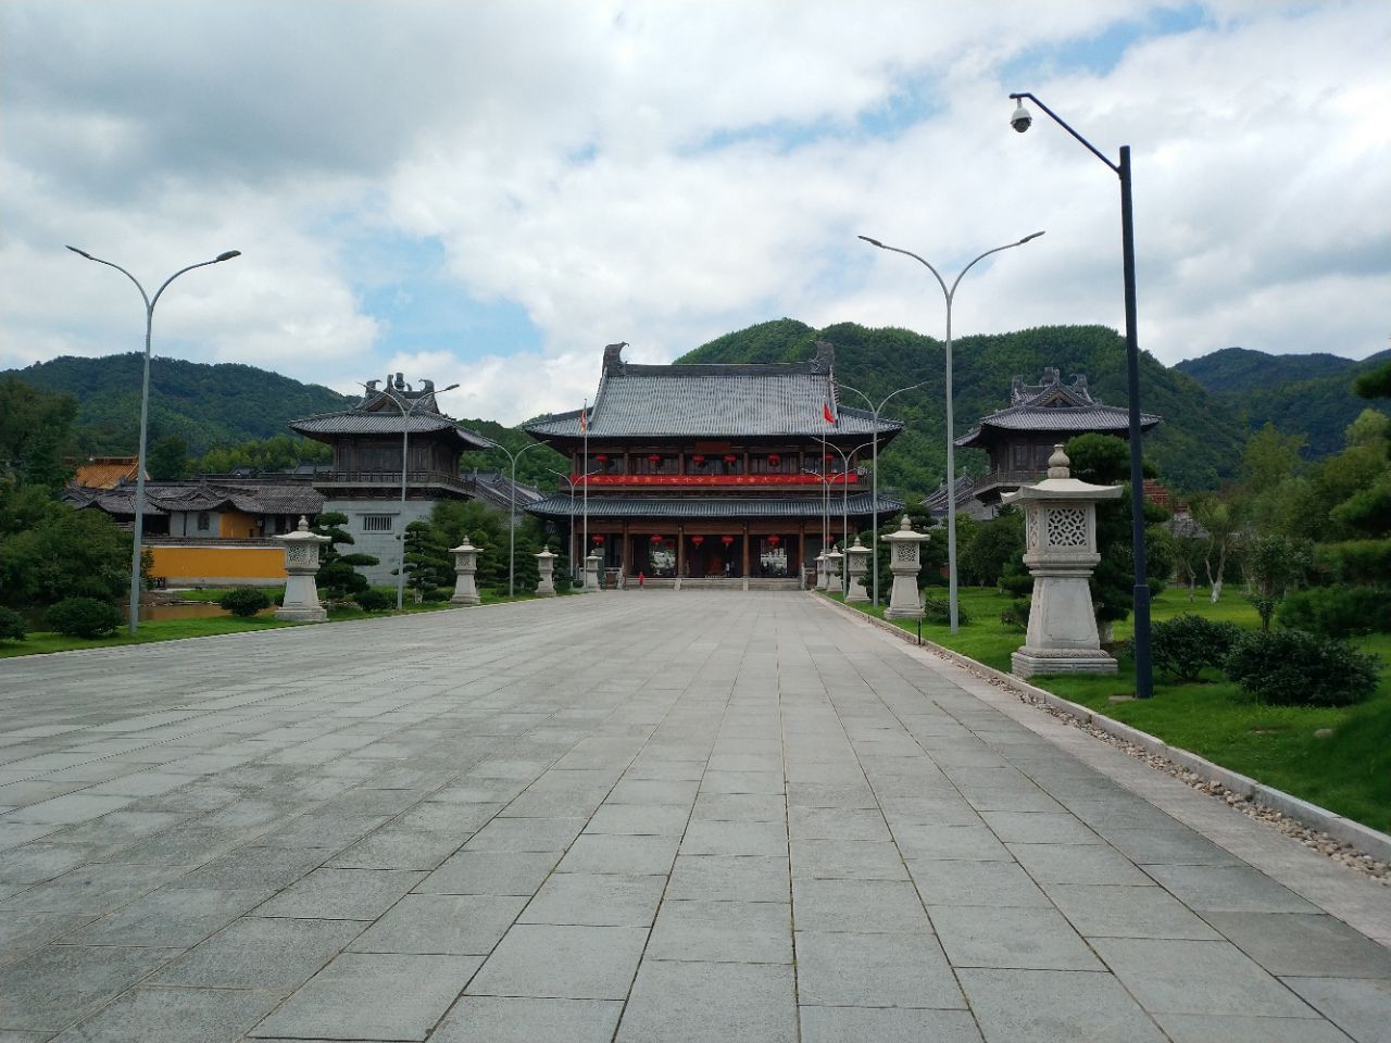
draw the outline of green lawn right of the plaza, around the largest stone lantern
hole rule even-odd
[[[924,640],[1008,672],[1010,654],[1024,644],[1022,633],[1000,622],[1008,598],[993,588],[965,588],[960,604],[971,622],[956,637],[944,624],[924,623]],[[1155,620],[1182,612],[1251,630],[1259,626],[1256,611],[1239,591],[1230,588],[1217,605],[1207,601],[1206,591],[1199,591],[1189,605],[1188,591],[1173,588],[1152,605]],[[917,620],[896,623],[917,631]],[[1129,636],[1128,622],[1116,626],[1117,638]],[[1381,656],[1381,686],[1367,702],[1337,709],[1262,706],[1216,672],[1191,684],[1175,684],[1156,674],[1155,698],[1111,702],[1111,695],[1135,691],[1135,668],[1128,659],[1121,659],[1120,673],[1111,677],[1054,676],[1029,681],[1224,768],[1391,832],[1391,634],[1373,634],[1355,644]],[[1320,729],[1331,729],[1333,737],[1316,738]]]

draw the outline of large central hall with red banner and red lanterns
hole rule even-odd
[[[829,343],[766,366],[645,366],[625,346],[604,349],[587,413],[526,427],[570,458],[570,485],[526,509],[569,533],[572,560],[598,551],[629,579],[798,577],[869,523],[860,463],[903,424],[840,407]],[[878,512],[901,508],[881,496]]]

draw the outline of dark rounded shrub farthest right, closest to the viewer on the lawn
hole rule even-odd
[[[1227,659],[1227,676],[1273,706],[1348,706],[1377,688],[1377,659],[1306,630],[1246,634]]]

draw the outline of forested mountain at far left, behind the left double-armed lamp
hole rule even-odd
[[[85,455],[134,456],[140,423],[138,352],[102,359],[63,356],[15,377],[78,401],[78,449]],[[156,357],[150,364],[150,442],[182,438],[200,456],[214,445],[287,434],[285,421],[345,409],[355,398],[300,384],[255,366]]]

